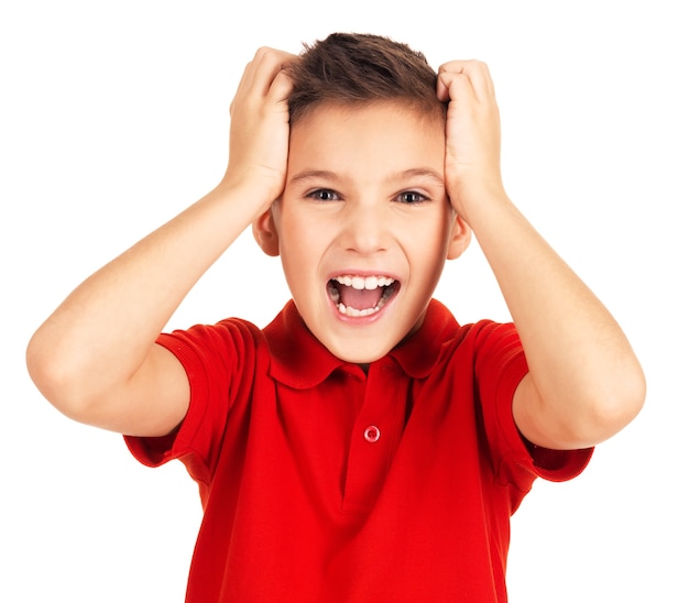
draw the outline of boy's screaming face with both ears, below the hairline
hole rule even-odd
[[[368,364],[414,332],[468,244],[444,160],[444,121],[395,102],[327,105],[292,128],[283,197],[254,233],[338,358]]]

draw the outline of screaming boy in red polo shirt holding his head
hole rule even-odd
[[[486,67],[333,34],[260,50],[230,111],[221,183],[65,300],[32,377],[198,482],[187,601],[505,601],[510,516],[537,476],[577,475],[645,383],[506,196]],[[160,335],[249,224],[284,310]],[[514,325],[431,299],[471,231]]]

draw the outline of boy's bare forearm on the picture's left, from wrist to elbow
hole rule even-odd
[[[29,346],[29,370],[44,395],[69,409],[131,380],[255,207],[241,189],[217,188],[78,286]]]

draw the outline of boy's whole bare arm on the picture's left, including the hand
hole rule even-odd
[[[230,156],[203,199],[100,268],[39,328],[26,363],[67,416],[114,431],[161,436],[184,418],[186,374],[155,340],[185,295],[282,194],[293,55],[260,50],[230,107]]]

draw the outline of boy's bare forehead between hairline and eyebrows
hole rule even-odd
[[[328,102],[291,129],[288,173],[442,171],[445,120],[403,101]]]

